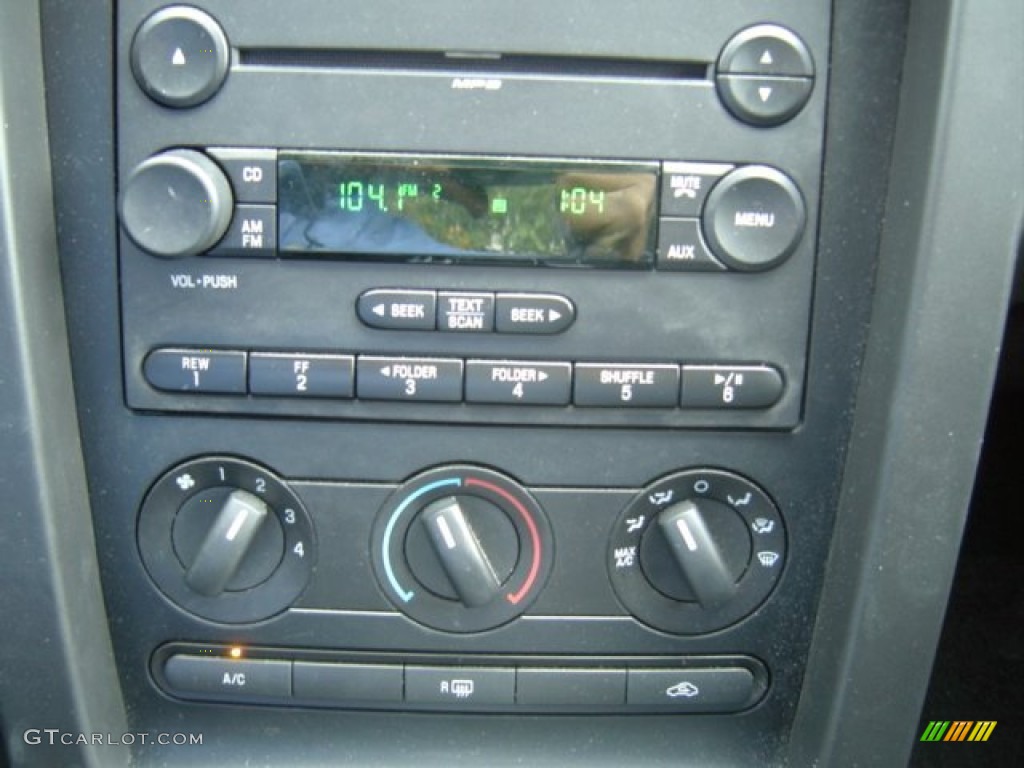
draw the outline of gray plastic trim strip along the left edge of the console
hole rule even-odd
[[[0,726],[13,765],[118,766],[127,749],[91,743],[128,728],[72,389],[41,43],[37,2],[0,5]]]

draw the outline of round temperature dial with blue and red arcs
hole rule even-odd
[[[374,526],[377,578],[395,606],[447,632],[480,632],[522,613],[551,569],[547,518],[514,480],[454,466],[412,478]]]

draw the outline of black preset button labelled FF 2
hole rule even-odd
[[[249,391],[293,397],[351,397],[354,393],[350,354],[250,352]]]

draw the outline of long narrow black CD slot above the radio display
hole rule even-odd
[[[593,80],[708,80],[708,61],[602,58],[466,51],[243,48],[242,67],[425,73],[453,77],[558,77]]]

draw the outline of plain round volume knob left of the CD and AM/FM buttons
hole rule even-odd
[[[143,251],[194,256],[224,237],[231,222],[231,185],[220,167],[195,150],[168,150],[128,176],[119,204],[121,226]]]

